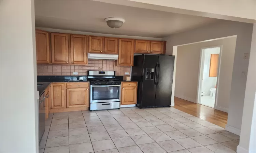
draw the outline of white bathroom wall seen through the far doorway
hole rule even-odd
[[[215,88],[217,83],[217,77],[209,77],[211,54],[219,54],[220,47],[204,49],[204,65],[203,65],[203,81],[202,92],[205,92],[205,96],[210,96],[211,88]]]

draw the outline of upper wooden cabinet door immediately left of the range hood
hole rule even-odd
[[[71,35],[71,64],[88,64],[87,36]]]

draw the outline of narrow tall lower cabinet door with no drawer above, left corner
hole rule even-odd
[[[52,107],[65,108],[65,83],[52,83],[51,85]]]

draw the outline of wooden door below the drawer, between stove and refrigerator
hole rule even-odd
[[[137,103],[137,87],[122,87],[121,105]]]

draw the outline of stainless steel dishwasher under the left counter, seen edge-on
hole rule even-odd
[[[38,100],[38,139],[39,143],[42,140],[44,130],[45,130],[45,92],[39,97]]]

